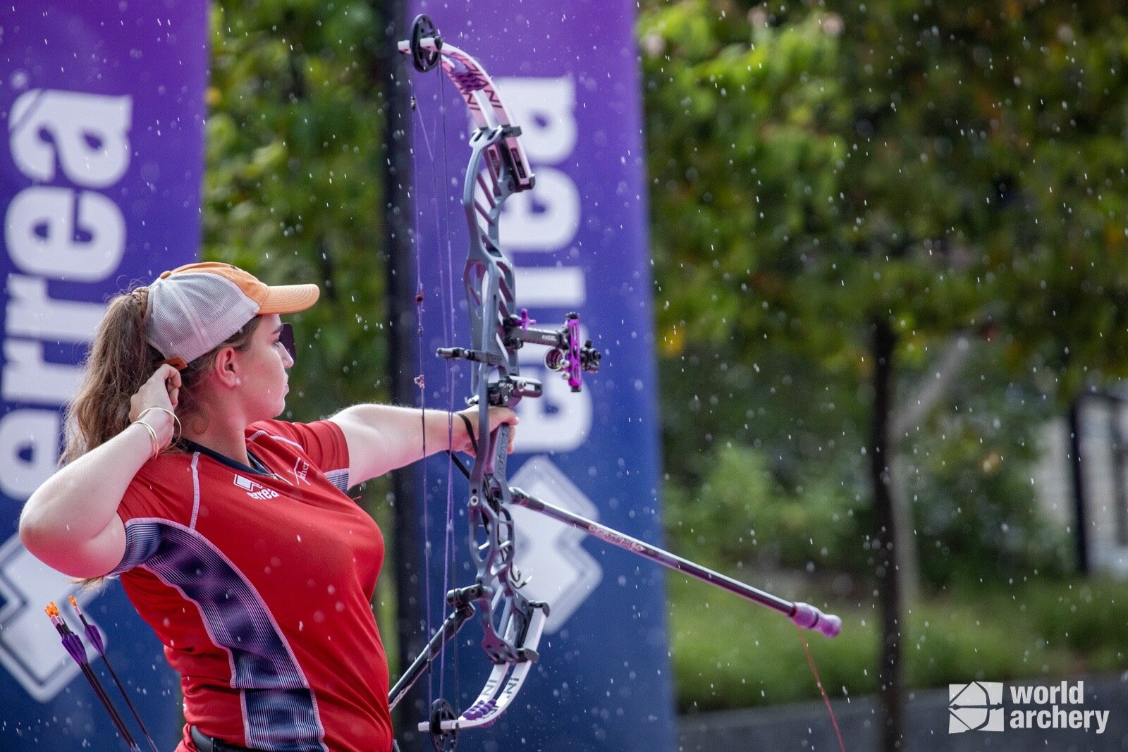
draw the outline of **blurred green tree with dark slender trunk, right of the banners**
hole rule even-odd
[[[1125,26],[1100,1],[644,3],[667,356],[747,369],[772,342],[866,384],[884,749],[893,458],[926,419],[898,374],[977,336],[1061,400],[1128,365]]]

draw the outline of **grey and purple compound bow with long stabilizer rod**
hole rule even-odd
[[[590,339],[581,342],[578,313],[569,313],[558,328],[545,329],[536,328],[536,321],[525,309],[518,312],[513,267],[499,246],[499,222],[505,201],[514,193],[532,188],[535,176],[521,145],[521,129],[513,124],[490,76],[474,57],[444,43],[425,15],[415,18],[411,38],[399,42],[398,47],[411,56],[420,72],[441,65],[466,101],[475,125],[462,185],[470,242],[462,278],[473,344],[468,348],[443,347],[438,355],[474,364],[474,396],[469,400],[478,409],[474,465],[467,469],[456,458],[452,461],[469,479],[470,548],[477,576],[473,585],[447,594],[453,610],[391,689],[390,706],[403,699],[440,655],[446,642],[475,612],[479,614],[482,645],[494,664],[493,671],[477,699],[462,713],[456,713],[442,698],[435,700],[431,718],[420,724],[420,731],[431,732],[437,750],[451,750],[460,729],[490,726],[521,689],[538,657],[548,604],[531,601],[520,592],[527,581],[522,581],[513,561],[515,529],[510,512],[513,504],[785,613],[800,627],[836,636],[841,628],[838,617],[757,590],[509,487],[505,465],[510,427],[501,425],[491,433],[488,408],[515,408],[522,398],[541,395],[540,382],[520,375],[518,350],[526,344],[547,346],[545,364],[559,372],[572,391],[580,391],[584,371],[598,371],[600,353]]]

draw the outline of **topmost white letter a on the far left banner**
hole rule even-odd
[[[130,166],[133,101],[81,91],[32,89],[8,114],[11,157],[39,183],[55,178],[55,158],[76,185],[105,188]],[[43,138],[50,135],[50,140]]]

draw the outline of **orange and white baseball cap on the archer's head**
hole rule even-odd
[[[230,264],[188,264],[161,273],[149,285],[147,338],[180,368],[256,316],[303,311],[320,293],[316,284],[270,286]]]

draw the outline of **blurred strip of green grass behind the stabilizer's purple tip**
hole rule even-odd
[[[680,577],[669,581],[672,660],[682,711],[819,697],[794,625]],[[990,580],[910,609],[904,634],[909,688],[972,679],[1042,681],[1128,669],[1128,599],[1114,581]],[[796,596],[816,601],[810,593]],[[858,604],[834,640],[807,642],[831,698],[875,691],[876,612]]]

